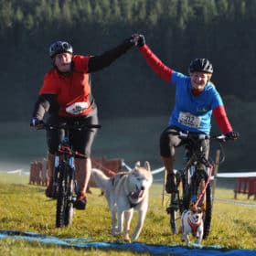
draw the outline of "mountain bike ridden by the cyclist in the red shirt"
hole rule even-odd
[[[78,184],[76,180],[74,158],[76,155],[85,157],[73,151],[70,145],[69,131],[81,130],[86,127],[101,128],[100,124],[60,123],[59,125],[45,124],[49,130],[60,131],[60,144],[58,153],[55,155],[55,170],[53,175],[53,198],[57,199],[56,227],[69,226],[72,223],[74,204],[78,195]]]

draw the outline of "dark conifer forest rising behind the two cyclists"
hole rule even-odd
[[[231,152],[236,166],[253,159],[255,21],[256,0],[0,0],[1,120],[28,122],[51,67],[53,41],[65,39],[76,53],[97,55],[139,32],[174,69],[187,73],[198,57],[213,62],[213,82],[242,134]],[[92,80],[101,117],[167,116],[173,105],[174,89],[136,48]]]

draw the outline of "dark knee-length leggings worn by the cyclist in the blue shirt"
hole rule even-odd
[[[175,156],[176,147],[186,144],[186,140],[182,140],[176,134],[170,132],[182,131],[175,126],[168,126],[165,128],[160,136],[160,155],[162,157]],[[185,131],[183,131],[185,132]],[[209,140],[202,140],[201,146],[206,158],[208,159],[209,153]]]

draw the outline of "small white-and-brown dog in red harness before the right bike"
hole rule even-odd
[[[189,233],[192,233],[196,238],[196,243],[199,244],[204,234],[204,221],[203,221],[203,209],[192,207],[185,210],[181,215],[181,232],[182,240],[189,244]]]

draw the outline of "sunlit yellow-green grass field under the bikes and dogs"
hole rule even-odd
[[[162,206],[162,185],[151,188],[150,206],[144,223],[144,229],[138,241],[147,244],[180,244],[181,236],[172,235],[169,228],[169,216]],[[110,235],[110,211],[100,190],[92,188],[88,195],[88,208],[76,210],[73,224],[69,228],[55,228],[55,201],[44,195],[45,187],[28,185],[28,176],[0,173],[0,229],[30,231],[59,238],[91,238],[93,241],[122,240],[122,236]],[[231,189],[217,188],[216,198],[233,200]],[[165,197],[165,205],[167,203]],[[255,203],[245,195],[239,195],[235,202]],[[218,244],[232,249],[256,250],[256,208],[241,205],[214,202],[212,228],[203,245]],[[135,225],[133,218],[132,229]],[[79,250],[57,245],[41,244],[26,240],[0,240],[2,255],[120,255],[119,251]],[[134,255],[122,252],[122,255]],[[146,254],[144,254],[146,255]]]

